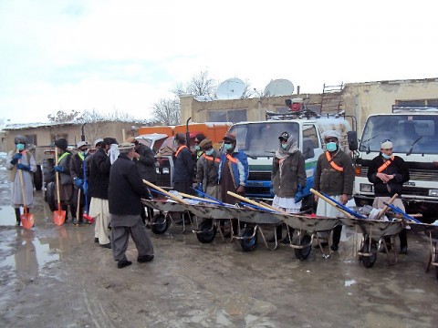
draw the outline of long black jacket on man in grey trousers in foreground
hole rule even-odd
[[[141,214],[141,197],[149,192],[141,180],[139,169],[126,154],[120,154],[112,163],[108,203],[110,213],[117,215]]]

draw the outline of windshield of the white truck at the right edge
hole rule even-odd
[[[360,151],[381,151],[381,142],[391,140],[393,151],[438,154],[438,116],[380,115],[370,117],[360,140]]]

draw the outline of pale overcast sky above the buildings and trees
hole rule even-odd
[[[0,119],[153,103],[201,71],[264,90],[438,77],[433,1],[0,0]]]

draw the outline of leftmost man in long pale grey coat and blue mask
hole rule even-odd
[[[20,207],[23,206],[28,210],[33,206],[34,184],[31,173],[36,172],[36,161],[26,149],[26,137],[18,135],[14,142],[16,149],[7,154],[5,167],[11,172],[11,202],[16,210],[16,225],[19,226],[21,224]]]

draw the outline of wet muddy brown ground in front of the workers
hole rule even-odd
[[[14,226],[0,169],[1,327],[436,327],[438,281],[425,272],[428,241],[409,232],[409,254],[366,269],[354,231],[339,252],[298,261],[287,246],[241,251],[237,242],[201,244],[172,225],[151,233],[155,259],[117,269],[93,241],[93,226],[57,227],[36,191],[36,225]],[[150,231],[151,232],[151,231]]]

